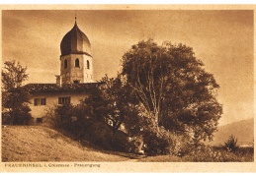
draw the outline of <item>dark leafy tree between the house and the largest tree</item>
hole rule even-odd
[[[130,88],[124,85],[120,75],[115,79],[106,75],[101,83],[100,88],[91,90],[82,104],[85,105],[87,112],[90,112],[90,117],[109,125],[112,129],[111,144],[115,148],[115,139],[122,126],[127,128],[128,134],[134,133],[129,128],[134,123],[131,118],[137,117],[137,109],[134,107]]]

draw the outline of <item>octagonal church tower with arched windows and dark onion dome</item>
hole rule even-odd
[[[91,43],[76,23],[60,43],[60,80],[65,84],[93,82]]]

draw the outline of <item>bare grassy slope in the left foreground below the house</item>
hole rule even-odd
[[[108,154],[45,127],[2,128],[2,161],[123,161],[128,157]]]

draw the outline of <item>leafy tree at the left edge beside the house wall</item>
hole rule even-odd
[[[2,107],[9,109],[11,124],[28,124],[31,118],[28,106],[30,94],[23,88],[28,80],[27,67],[23,68],[15,60],[6,61],[2,70]]]

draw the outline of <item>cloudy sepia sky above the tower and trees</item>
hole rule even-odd
[[[28,67],[28,83],[55,83],[60,42],[77,24],[91,42],[94,80],[115,77],[132,44],[153,38],[193,47],[212,73],[223,105],[219,125],[253,118],[253,11],[235,10],[4,10],[2,65]]]

